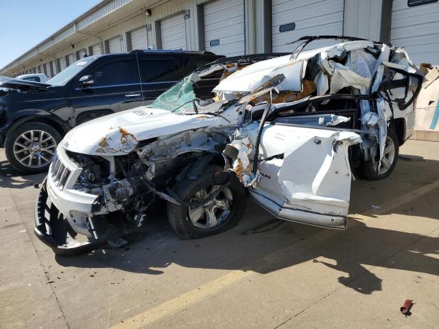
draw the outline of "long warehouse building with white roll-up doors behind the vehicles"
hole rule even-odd
[[[292,51],[306,35],[335,34],[405,47],[439,64],[439,0],[104,0],[0,69],[56,75],[86,55],[133,49],[226,56]]]

